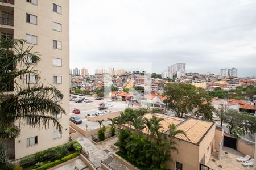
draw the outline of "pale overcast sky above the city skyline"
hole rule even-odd
[[[187,72],[238,69],[256,75],[254,0],[71,0],[70,63],[149,61],[161,73],[174,63]],[[143,66],[142,66],[143,67]]]

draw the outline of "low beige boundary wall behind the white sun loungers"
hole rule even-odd
[[[242,154],[249,155],[251,158],[254,158],[255,145],[251,145],[250,143],[238,139],[237,150]]]

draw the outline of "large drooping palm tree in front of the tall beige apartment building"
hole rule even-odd
[[[31,53],[32,46],[24,48],[24,44],[21,39],[0,40],[0,169],[13,168],[7,161],[2,141],[19,137],[20,128],[14,122],[27,122],[30,128],[44,129],[52,122],[61,131],[61,124],[54,116],[65,114],[60,106],[63,94],[54,86],[26,84],[26,75],[40,79],[39,71],[34,70],[36,64],[31,62],[37,63],[40,58]],[[10,94],[10,87],[14,93]]]

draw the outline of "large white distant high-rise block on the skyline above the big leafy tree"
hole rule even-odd
[[[186,74],[185,67],[185,63],[176,63],[174,65],[171,65],[167,67],[167,70],[162,73],[162,77],[167,76],[169,78],[173,78],[173,76],[176,75],[177,78],[181,78]]]

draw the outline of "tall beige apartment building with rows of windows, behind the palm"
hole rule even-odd
[[[5,141],[9,159],[19,159],[69,141],[69,0],[1,0],[0,11],[1,37],[25,39],[26,46],[34,46],[32,52],[41,58],[35,67],[41,82],[34,83],[56,86],[64,95],[61,106],[67,112],[56,116],[62,133],[51,125],[44,130],[20,124],[20,136]]]

